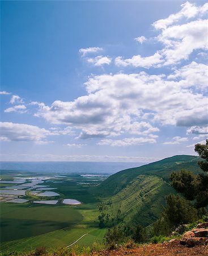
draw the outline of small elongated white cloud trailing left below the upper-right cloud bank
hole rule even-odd
[[[156,64],[162,63],[162,55],[156,52],[152,56],[142,57],[141,55],[134,55],[130,59],[123,59],[122,57],[116,57],[114,60],[117,66],[127,67],[133,65],[134,67],[150,68]]]

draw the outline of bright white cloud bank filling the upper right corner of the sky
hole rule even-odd
[[[162,43],[162,49],[151,56],[134,55],[129,59],[119,56],[115,60],[116,65],[143,68],[176,65],[181,60],[187,60],[195,50],[207,50],[207,19],[204,16],[208,4],[196,6],[186,2],[181,7],[179,13],[152,24],[160,32],[155,40]],[[141,36],[135,40],[142,43],[145,38]]]

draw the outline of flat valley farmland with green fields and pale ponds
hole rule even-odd
[[[21,179],[16,179],[17,177]],[[28,177],[31,179],[26,179]],[[91,245],[94,241],[103,241],[106,230],[98,228],[97,203],[99,200],[90,193],[89,188],[99,184],[106,177],[80,174],[47,174],[46,176],[42,174],[41,176],[31,172],[26,175],[26,172],[14,174],[12,171],[6,173],[2,171],[1,251],[31,250],[43,245],[46,247],[70,246],[74,242],[79,245]],[[25,182],[15,184],[14,180]],[[24,184],[25,194],[14,195],[17,191],[23,191]],[[5,191],[9,191],[9,195]],[[58,195],[41,196],[41,193],[49,191],[56,191]],[[10,203],[11,198],[28,201]],[[43,204],[37,204],[37,201],[42,201]],[[82,238],[79,239],[80,237]]]

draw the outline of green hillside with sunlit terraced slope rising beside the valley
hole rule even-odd
[[[197,156],[181,155],[166,158],[138,168],[117,172],[93,188],[103,204],[105,225],[150,225],[162,213],[165,197],[176,193],[169,184],[172,171],[182,168],[200,171]]]

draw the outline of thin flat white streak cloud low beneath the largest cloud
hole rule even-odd
[[[102,139],[98,145],[110,145],[113,147],[123,147],[123,146],[133,146],[133,145],[141,145],[141,144],[149,144],[156,143],[153,138],[125,138],[125,139]]]

